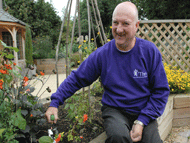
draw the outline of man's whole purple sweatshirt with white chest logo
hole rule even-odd
[[[113,39],[90,54],[52,94],[50,106],[63,104],[99,76],[105,89],[103,105],[138,114],[145,125],[162,115],[169,95],[162,56],[153,43],[140,38],[128,52],[118,50]]]

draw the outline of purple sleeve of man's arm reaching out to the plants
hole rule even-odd
[[[100,75],[100,65],[97,52],[94,51],[81,63],[77,70],[60,84],[57,91],[51,96],[50,106],[58,108],[64,101],[72,96],[77,90],[93,83]]]

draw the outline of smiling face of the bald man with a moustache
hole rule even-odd
[[[121,50],[135,43],[135,34],[139,24],[133,10],[126,10],[126,8],[117,8],[112,17],[112,34],[117,48]]]

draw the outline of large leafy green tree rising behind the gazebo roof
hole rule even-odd
[[[5,1],[11,15],[31,26],[32,38],[48,35],[52,39],[52,48],[57,44],[61,18],[52,4],[44,0]]]

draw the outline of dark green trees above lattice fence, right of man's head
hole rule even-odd
[[[187,0],[132,0],[140,19],[190,19],[190,2]]]

